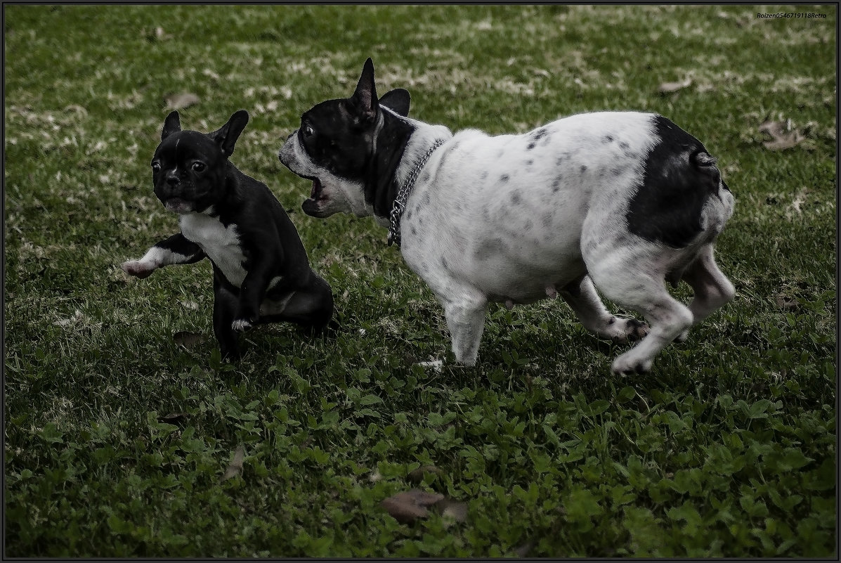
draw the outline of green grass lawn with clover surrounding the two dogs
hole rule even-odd
[[[827,17],[755,17],[780,11]],[[834,7],[7,6],[5,25],[4,555],[838,555]],[[373,220],[305,216],[276,157],[367,56],[380,93],[453,130],[674,120],[736,195],[717,259],[737,299],[644,376],[611,375],[622,348],[549,302],[489,310],[475,368],[414,365],[449,349],[431,291]],[[119,270],[177,229],[149,162],[180,92],[201,100],[187,128],[251,113],[233,160],[290,210],[336,332],[261,327],[220,364],[209,263]],[[765,120],[806,141],[767,150]],[[441,472],[410,484],[419,465]],[[413,486],[467,521],[379,507]]]

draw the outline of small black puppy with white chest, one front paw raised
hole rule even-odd
[[[152,159],[155,195],[178,216],[181,232],[122,264],[146,278],[157,268],[209,258],[214,271],[214,333],[222,357],[239,356],[236,332],[258,322],[320,329],[330,321],[330,285],[311,268],[298,231],[266,184],[229,160],[248,123],[240,110],[213,133],[181,130],[167,115]]]

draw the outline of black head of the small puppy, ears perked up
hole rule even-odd
[[[151,162],[155,195],[167,210],[204,211],[224,197],[228,157],[247,121],[240,111],[220,130],[204,134],[182,131],[175,111],[167,116]]]

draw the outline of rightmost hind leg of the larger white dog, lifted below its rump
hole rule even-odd
[[[718,269],[712,258],[712,244],[701,247],[696,258],[684,270],[682,279],[690,284],[695,296],[689,304],[693,326],[710,316],[722,305],[729,303],[736,296],[736,289],[727,277]],[[689,329],[678,335],[678,342],[683,342],[689,335]]]

